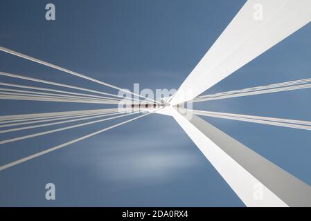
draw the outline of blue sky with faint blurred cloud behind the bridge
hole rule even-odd
[[[46,3],[56,21],[45,20]],[[0,1],[0,44],[122,88],[178,88],[245,1]],[[308,24],[207,93],[311,75]],[[0,52],[1,71],[116,90]],[[26,84],[0,77],[0,81]],[[39,86],[39,84],[31,84]],[[42,86],[42,85],[40,85]],[[208,111],[311,120],[310,89],[196,104]],[[1,100],[1,115],[103,108]],[[127,117],[125,117],[127,119]],[[204,117],[311,184],[310,131]],[[0,163],[121,122],[0,147]],[[48,129],[54,128],[53,126]],[[47,129],[47,128],[46,128]],[[41,131],[1,134],[0,140]],[[47,201],[45,184],[56,186]],[[0,173],[0,206],[244,206],[170,117],[149,115]]]

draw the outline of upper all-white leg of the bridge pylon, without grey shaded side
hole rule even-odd
[[[197,97],[310,21],[310,0],[247,1],[181,84],[170,104]]]

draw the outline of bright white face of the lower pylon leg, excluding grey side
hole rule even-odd
[[[246,206],[287,206],[285,202],[267,189],[256,177],[251,175],[251,173],[206,137],[204,133],[191,124],[188,119],[174,108],[169,108],[168,110]],[[258,186],[260,186],[263,193],[262,199],[255,197],[256,187]]]

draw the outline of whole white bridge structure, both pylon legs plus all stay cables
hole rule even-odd
[[[259,14],[258,14],[259,13]],[[180,106],[183,106],[187,101],[198,101],[206,99],[206,96],[197,97],[211,86],[217,84],[225,77],[231,75],[236,70],[255,59],[269,48],[272,48],[278,42],[286,37],[292,35],[296,30],[299,30],[311,21],[311,0],[249,0],[242,7],[238,15],[231,21],[229,26],[222,32],[222,35],[215,41],[215,44],[208,50],[206,55],[197,64],[192,73],[187,77],[183,84],[172,97],[166,97],[163,103],[157,100],[149,99],[147,97],[137,95],[130,92],[132,95],[142,97],[152,104],[145,104],[139,99],[127,99],[126,102],[131,102],[132,113],[119,113],[118,109],[95,109],[85,111],[65,111],[65,112],[51,112],[51,113],[32,113],[25,115],[6,115],[0,116],[0,127],[7,126],[21,126],[20,128],[11,128],[0,131],[0,133],[10,133],[13,131],[24,131],[26,129],[41,128],[51,125],[66,124],[69,122],[79,122],[91,120],[85,123],[78,123],[72,126],[62,126],[50,131],[43,131],[40,133],[33,133],[21,137],[14,137],[9,140],[1,140],[1,144],[16,142],[19,140],[26,140],[28,138],[46,135],[50,133],[57,133],[66,131],[81,126],[97,124],[111,119],[127,117],[130,115],[144,113],[138,117],[126,119],[123,122],[113,124],[106,128],[100,129],[78,137],[75,140],[65,142],[47,148],[44,151],[28,155],[21,159],[7,164],[0,165],[0,171],[9,169],[12,166],[17,166],[28,160],[33,160],[36,157],[59,150],[76,142],[80,142],[94,135],[98,135],[105,131],[111,130],[123,124],[130,123],[136,119],[140,119],[151,113],[159,113],[163,115],[170,115],[174,117],[177,123],[184,129],[191,140],[197,145],[200,151],[205,155],[209,162],[215,167],[218,173],[229,184],[231,189],[238,195],[238,197],[247,206],[311,206],[311,187],[301,180],[297,179],[290,173],[287,173],[280,167],[276,166],[269,160],[258,155],[250,148],[234,140],[229,135],[218,130],[208,122],[197,117],[193,113],[201,115],[211,115],[214,117],[222,117],[226,119],[237,119],[248,122],[260,122],[276,126],[292,126],[295,128],[307,128],[307,126],[293,126],[289,123],[296,124],[295,120],[272,118],[272,117],[258,117],[251,115],[233,115],[229,113],[208,113],[207,111],[189,111]],[[76,73],[72,70],[56,66],[55,64],[30,57],[28,55],[15,52],[8,48],[0,46],[0,51],[33,61],[37,64],[60,70],[69,75],[80,77],[88,81],[93,81],[102,86],[114,88],[116,90],[125,91],[122,88],[107,84],[87,75]],[[0,88],[0,99],[16,99],[16,100],[32,100],[40,102],[75,102],[88,104],[119,104],[121,101],[120,95],[112,93],[105,93],[98,90],[90,90],[88,88],[81,88],[69,84],[60,84],[52,81],[45,81],[22,75],[15,75],[11,73],[0,72],[1,76],[23,79],[26,81],[33,81],[40,84],[47,84],[49,86],[57,86],[62,88],[69,88],[71,90],[82,90],[83,93],[58,90],[55,88],[42,88],[37,86],[8,84],[0,82],[1,86],[11,88]],[[307,79],[303,80],[307,82]],[[296,83],[298,81],[295,81]],[[299,82],[302,82],[301,80]],[[294,81],[292,81],[294,84]],[[310,85],[289,86],[292,84],[285,82],[280,85],[287,85],[284,88],[273,88],[273,90],[255,91],[254,88],[247,88],[242,90],[245,93],[240,95],[253,95],[259,93],[272,93],[282,90],[294,90],[297,88],[307,88]],[[300,84],[300,83],[299,83]],[[276,85],[274,85],[276,86]],[[271,86],[264,87],[265,89]],[[21,88],[23,90],[21,90]],[[263,88],[263,87],[261,87]],[[24,90],[27,89],[27,90]],[[258,88],[257,88],[258,89]],[[270,88],[271,89],[271,88]],[[254,90],[254,91],[253,91]],[[45,91],[45,92],[42,92]],[[128,93],[128,91],[125,91]],[[94,93],[96,95],[94,95]],[[103,97],[105,95],[105,97]],[[229,97],[238,96],[234,93]],[[196,99],[194,99],[196,97]],[[219,98],[225,98],[222,96]],[[226,98],[229,98],[226,97]],[[141,109],[141,105],[145,108]],[[138,107],[138,109],[137,109]],[[160,108],[160,109],[158,109]],[[108,117],[116,115],[114,117]],[[105,117],[105,118],[103,118]],[[100,118],[92,120],[95,118]],[[63,120],[66,119],[66,120]],[[272,123],[274,122],[274,123]],[[299,121],[301,122],[301,121]],[[14,124],[12,124],[14,123]],[[40,123],[35,126],[24,126],[26,124]],[[42,124],[41,124],[42,123]],[[285,124],[286,123],[286,124]],[[310,122],[303,122],[310,126]],[[308,126],[308,128],[309,128]],[[260,193],[258,193],[260,192]]]

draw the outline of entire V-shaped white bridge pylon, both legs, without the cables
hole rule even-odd
[[[254,15],[256,10],[261,17]],[[179,106],[310,21],[310,0],[247,1],[181,84],[170,106],[156,111],[174,117],[246,206],[311,206],[311,186]],[[256,195],[258,189],[261,196]]]

